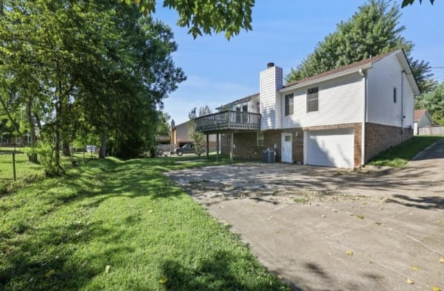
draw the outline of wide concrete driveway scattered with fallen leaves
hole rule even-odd
[[[402,170],[237,164],[167,175],[294,290],[444,290],[444,139]]]

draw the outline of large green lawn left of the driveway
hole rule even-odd
[[[289,290],[162,175],[216,164],[186,158],[91,160],[0,195],[0,290]]]

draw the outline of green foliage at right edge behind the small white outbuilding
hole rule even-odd
[[[444,125],[444,81],[434,91],[416,97],[415,108],[427,109],[434,123]]]

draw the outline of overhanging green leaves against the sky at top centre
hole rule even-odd
[[[155,0],[119,0],[135,3],[148,15],[155,12]],[[189,28],[189,33],[198,35],[225,32],[230,39],[241,29],[251,30],[251,9],[255,0],[164,0],[163,7],[176,10],[179,15],[178,26]]]

